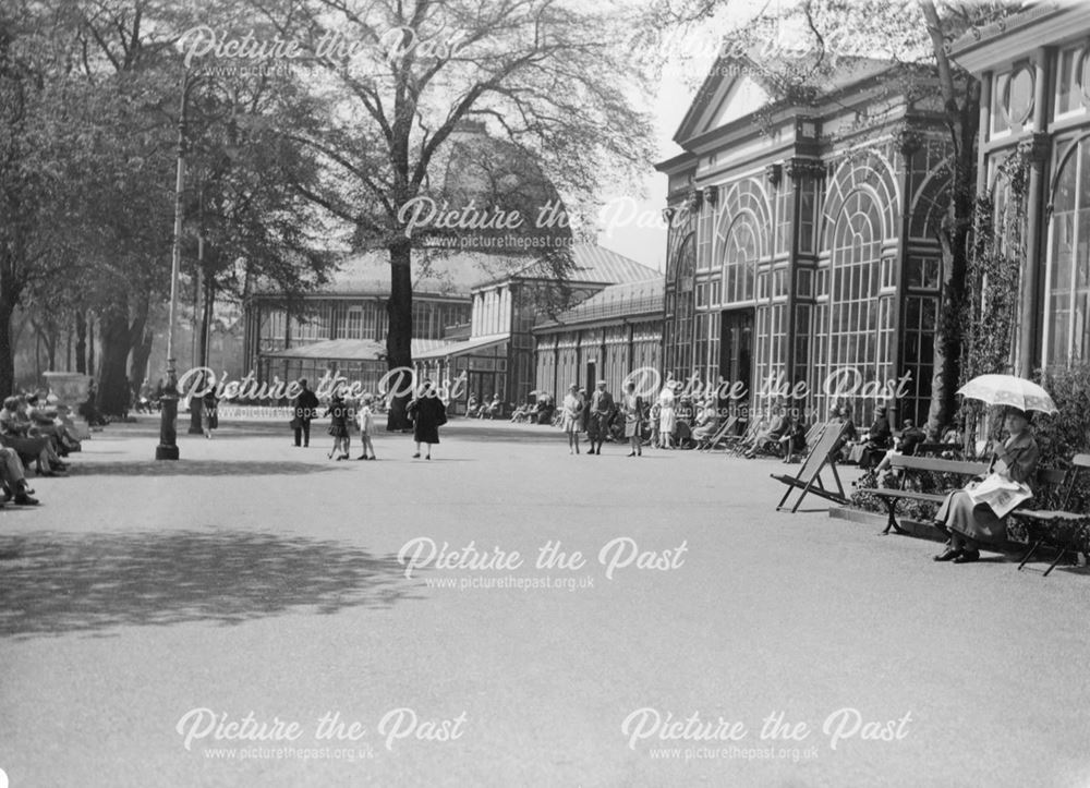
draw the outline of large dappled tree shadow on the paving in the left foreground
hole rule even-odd
[[[417,598],[402,572],[396,557],[342,542],[249,531],[9,537],[0,540],[0,637],[388,608]]]

